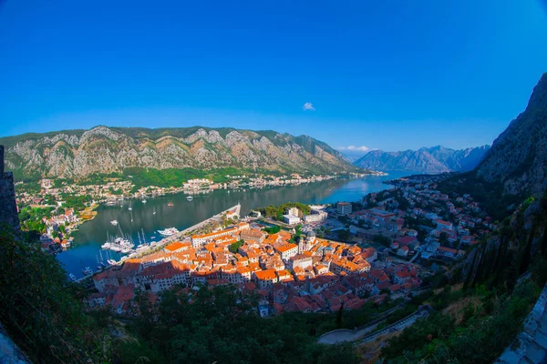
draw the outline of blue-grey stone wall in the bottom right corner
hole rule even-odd
[[[508,325],[511,325],[508,322]],[[524,329],[496,361],[499,364],[547,363],[547,285],[524,320]]]

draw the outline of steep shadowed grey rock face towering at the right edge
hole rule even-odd
[[[501,182],[512,195],[539,195],[547,188],[547,74],[534,87],[526,110],[494,141],[477,176]]]

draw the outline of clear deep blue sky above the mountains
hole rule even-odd
[[[546,14],[540,0],[0,0],[0,136],[201,125],[490,144],[547,71]]]

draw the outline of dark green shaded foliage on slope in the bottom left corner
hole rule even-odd
[[[33,362],[108,362],[108,330],[77,299],[77,287],[39,244],[0,231],[0,320]]]

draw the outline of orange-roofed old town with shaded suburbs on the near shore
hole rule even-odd
[[[214,231],[170,238],[95,274],[88,307],[131,315],[139,291],[155,302],[175,287],[228,284],[258,292],[263,317],[411,297],[494,228],[472,197],[439,192],[442,178],[400,178],[356,202],[285,204],[281,216],[275,207],[243,218],[228,211]]]

